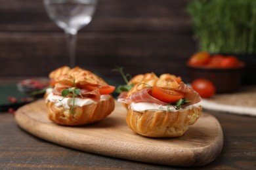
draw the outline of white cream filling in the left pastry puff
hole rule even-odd
[[[110,98],[110,95],[100,95],[100,101],[105,101]],[[70,109],[70,105],[73,105],[72,97],[62,97],[60,95],[54,95],[53,92],[49,93],[45,102],[51,101],[56,107],[64,107],[65,109]],[[82,99],[75,97],[75,106],[83,107],[84,105],[90,105],[96,103],[92,99]]]

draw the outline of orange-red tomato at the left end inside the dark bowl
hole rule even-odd
[[[188,59],[188,64],[192,66],[206,65],[209,63],[211,55],[207,52],[198,52]]]

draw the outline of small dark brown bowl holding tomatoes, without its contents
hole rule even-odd
[[[213,68],[187,65],[190,82],[205,78],[213,82],[217,93],[236,92],[242,84],[244,64],[235,68]]]

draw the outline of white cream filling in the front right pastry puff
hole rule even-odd
[[[177,112],[181,110],[187,110],[187,109],[192,109],[194,107],[199,107],[201,104],[196,103],[194,105],[188,105],[184,108],[181,108],[179,110],[176,110],[174,106],[169,105],[169,106],[163,106],[163,105],[158,105],[156,103],[150,103],[150,102],[139,102],[139,103],[131,103],[130,107],[131,109],[137,111],[137,112],[144,112],[144,110],[169,110],[171,112]]]

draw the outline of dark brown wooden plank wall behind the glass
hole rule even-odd
[[[77,65],[119,79],[131,75],[187,76],[196,52],[188,0],[99,0],[92,22],[78,32]],[[0,0],[0,77],[47,76],[69,64],[66,37],[47,16],[43,1]]]

